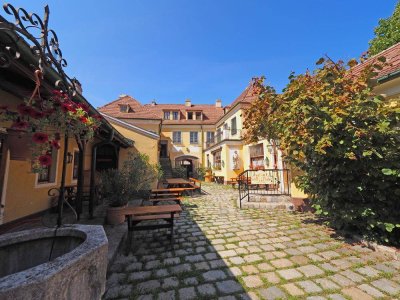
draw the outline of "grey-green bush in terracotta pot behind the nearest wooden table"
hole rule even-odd
[[[149,190],[161,176],[161,167],[150,164],[146,154],[130,152],[121,169],[109,169],[101,173],[99,189],[110,206],[119,207]]]

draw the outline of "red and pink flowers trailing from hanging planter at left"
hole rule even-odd
[[[17,111],[0,107],[0,120],[11,121],[11,129],[31,136],[32,171],[41,172],[52,164],[52,151],[60,149],[62,134],[90,140],[100,125],[101,116],[91,116],[89,107],[75,103],[55,90],[51,97],[36,97],[17,106]],[[28,145],[27,145],[28,146]]]

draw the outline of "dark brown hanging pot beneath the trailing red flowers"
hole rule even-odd
[[[31,157],[32,135],[19,130],[7,129],[11,160],[27,160]]]

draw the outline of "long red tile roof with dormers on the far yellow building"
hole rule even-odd
[[[131,107],[130,112],[121,112],[120,105],[125,104]],[[164,117],[164,111],[179,111],[180,120],[163,120],[164,124],[215,124],[223,115],[223,108],[215,105],[192,105],[185,104],[140,104],[139,101],[130,96],[121,97],[98,109],[100,112],[116,118],[123,119],[149,119],[160,120]],[[186,120],[186,111],[202,111],[203,120]]]

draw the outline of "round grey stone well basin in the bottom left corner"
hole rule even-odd
[[[0,300],[100,299],[108,241],[102,226],[66,225],[0,236]]]

